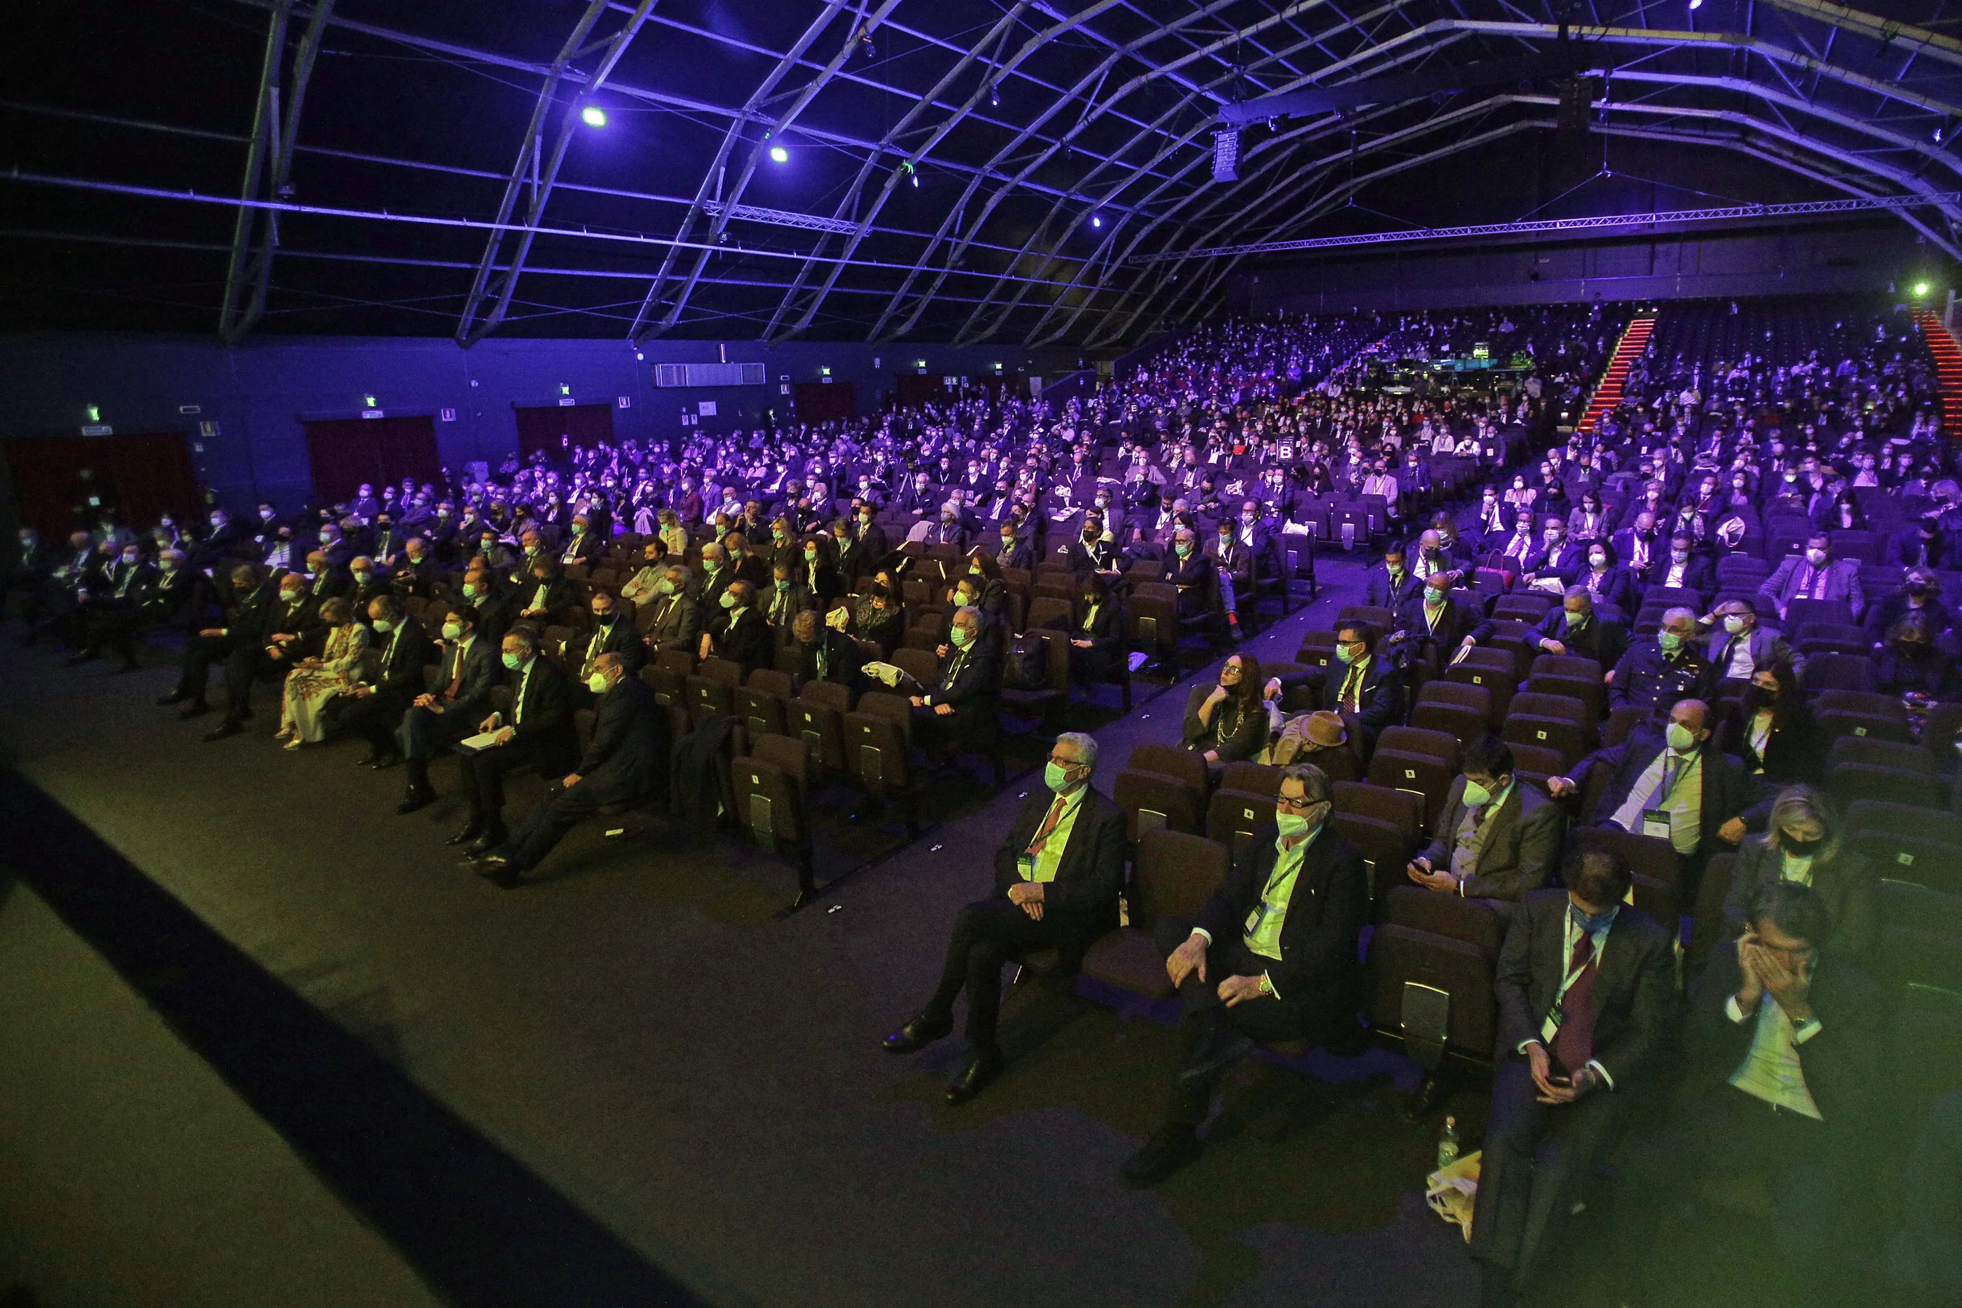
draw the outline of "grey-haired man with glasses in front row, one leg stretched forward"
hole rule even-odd
[[[1165,1121],[1120,1178],[1152,1186],[1199,1155],[1220,1074],[1258,1041],[1356,1035],[1356,941],[1369,919],[1362,850],[1328,825],[1320,768],[1281,770],[1275,825],[1256,831],[1197,921],[1165,915],[1156,941],[1179,992],[1181,1059]]]

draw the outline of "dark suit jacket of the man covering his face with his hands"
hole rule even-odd
[[[1756,1015],[1730,1021],[1725,1011],[1725,1000],[1738,992],[1742,980],[1736,943],[1723,941],[1711,951],[1703,976],[1689,988],[1683,1029],[1683,1088],[1689,1092],[1725,1088],[1750,1053],[1758,1031]],[[1807,998],[1821,1029],[1799,1045],[1805,1088],[1833,1133],[1842,1143],[1858,1143],[1876,1106],[1874,1092],[1887,1076],[1887,1061],[1880,1055],[1887,1027],[1880,996],[1852,960],[1821,954]],[[1776,1004],[1772,996],[1758,1002]],[[1917,1057],[1911,1049],[1895,1053]]]

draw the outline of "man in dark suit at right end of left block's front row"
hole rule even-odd
[[[473,854],[477,870],[504,890],[516,890],[585,817],[608,803],[667,793],[669,725],[653,689],[616,654],[598,656],[585,687],[594,699],[593,738],[573,772],[545,791],[500,848]]]

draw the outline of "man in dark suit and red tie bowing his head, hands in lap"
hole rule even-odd
[[[1566,890],[1521,901],[1499,953],[1497,1074],[1470,1241],[1487,1306],[1538,1288],[1542,1251],[1560,1243],[1630,1100],[1662,1070],[1676,1019],[1672,933],[1623,903],[1628,864],[1585,850],[1562,880]]]

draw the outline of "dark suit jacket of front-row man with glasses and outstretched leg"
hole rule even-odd
[[[1195,923],[1216,943],[1238,941],[1248,913],[1260,903],[1273,874],[1275,839],[1269,823],[1248,839],[1226,884],[1213,892]],[[1311,1037],[1326,1033],[1352,1011],[1356,998],[1356,941],[1369,921],[1369,876],[1362,850],[1342,839],[1334,823],[1301,858],[1295,890],[1281,921],[1281,956],[1267,964],[1273,992],[1303,1013]],[[1224,978],[1213,978],[1216,984]]]

